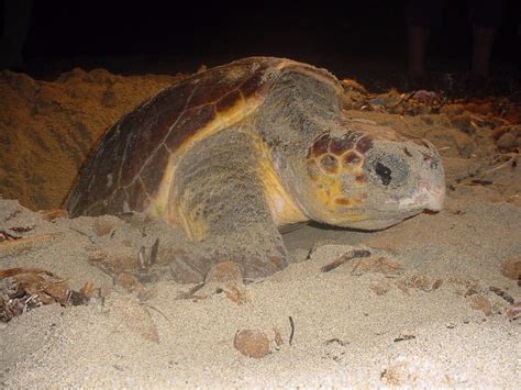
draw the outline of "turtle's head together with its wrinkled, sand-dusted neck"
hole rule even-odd
[[[388,127],[348,121],[339,89],[284,73],[256,118],[256,129],[295,205],[310,220],[379,230],[441,210],[440,155]]]

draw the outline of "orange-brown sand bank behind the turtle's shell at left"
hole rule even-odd
[[[0,74],[0,188],[31,209],[55,209],[108,127],[182,77],[74,69],[56,81]]]

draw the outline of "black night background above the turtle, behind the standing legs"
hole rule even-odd
[[[494,66],[518,69],[521,1],[507,1]],[[3,19],[3,18],[2,18]],[[470,52],[466,1],[447,1],[433,31],[431,67],[465,70]],[[54,77],[75,66],[111,71],[193,71],[250,55],[290,57],[362,80],[404,71],[404,1],[58,1],[35,0],[25,71]]]

